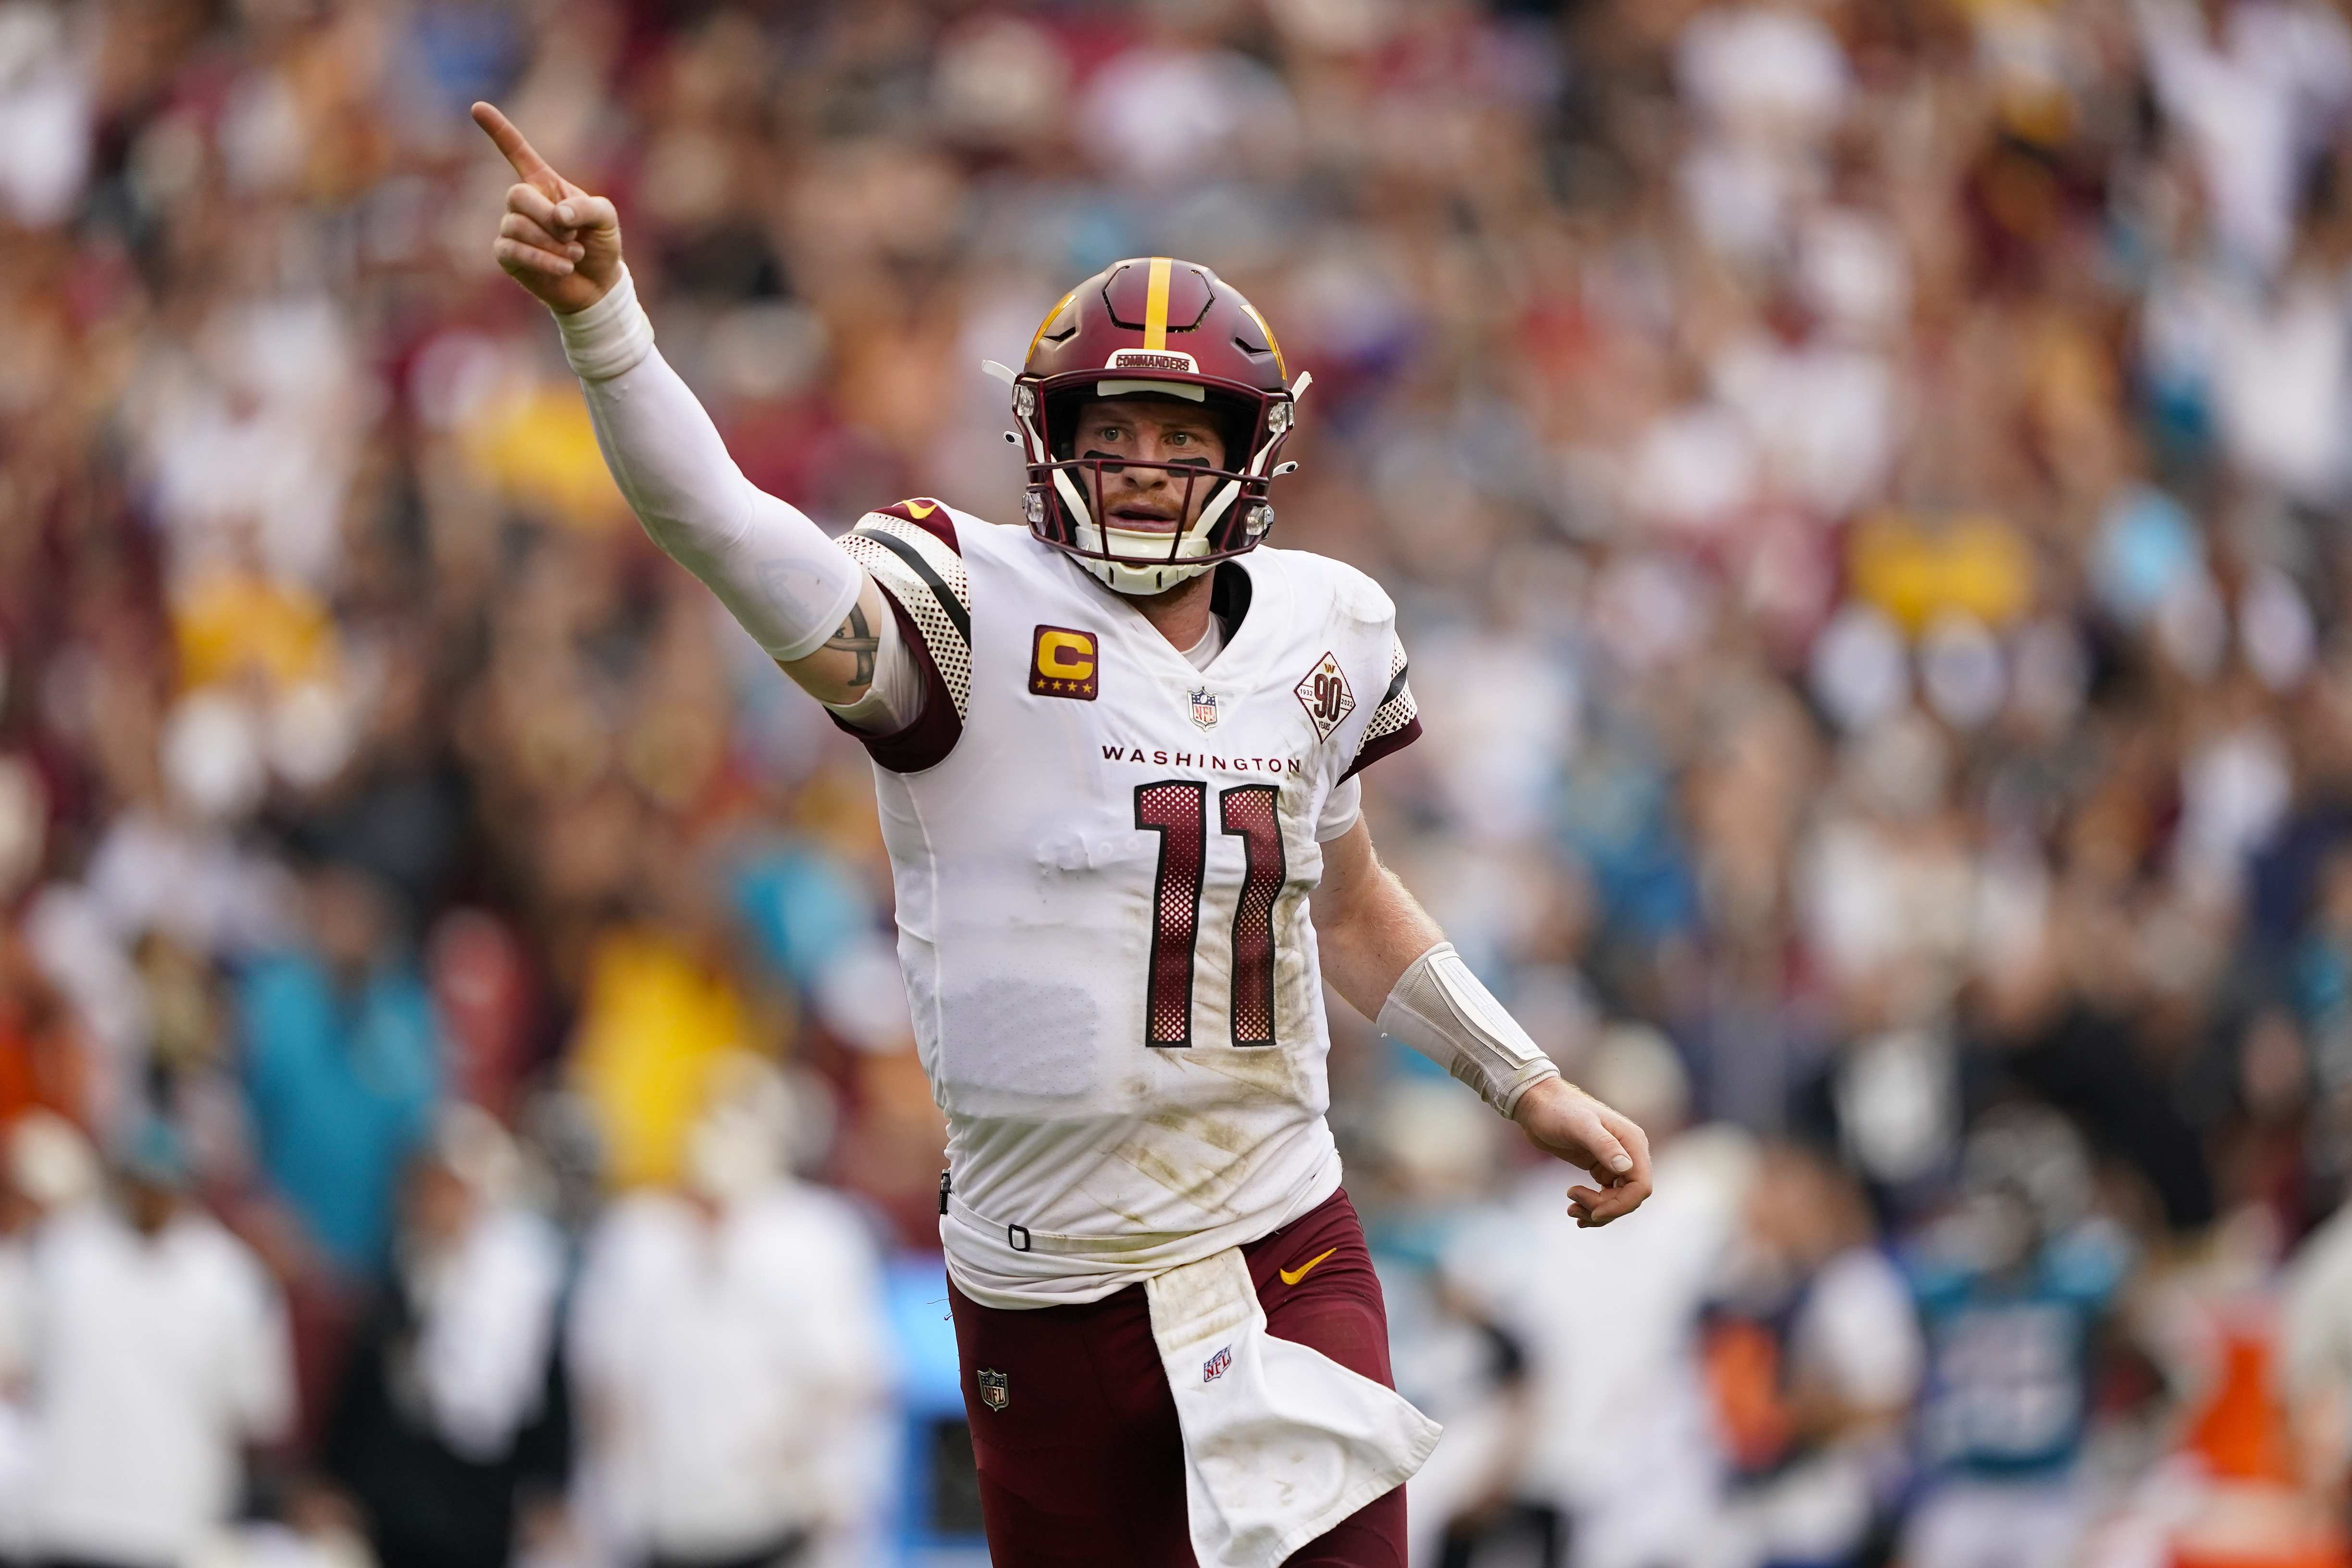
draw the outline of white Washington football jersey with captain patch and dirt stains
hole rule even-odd
[[[1195,670],[1025,529],[903,501],[842,545],[924,665],[922,715],[861,741],[955,1284],[1096,1300],[1324,1201],[1308,891],[1331,792],[1421,731],[1395,604],[1258,548],[1221,569],[1240,625]]]

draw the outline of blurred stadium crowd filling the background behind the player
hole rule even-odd
[[[985,1561],[868,764],[477,96],[828,529],[1120,256],[1315,374],[1374,835],[1658,1147],[1334,1004],[1416,1566],[2352,1561],[2333,0],[0,5],[0,1556]]]

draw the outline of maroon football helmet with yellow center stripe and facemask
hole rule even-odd
[[[1265,491],[1282,473],[1275,454],[1291,435],[1308,376],[1289,381],[1265,317],[1209,268],[1171,256],[1115,261],[1054,306],[1030,339],[1021,374],[990,369],[1014,388],[1030,475],[1023,498],[1030,531],[1110,588],[1136,595],[1174,588],[1254,550],[1275,524]],[[1202,404],[1225,428],[1228,465],[1077,456],[1084,402],[1138,393]],[[1096,503],[1105,468],[1160,468],[1181,477],[1183,515],[1192,522],[1174,534],[1101,527]]]

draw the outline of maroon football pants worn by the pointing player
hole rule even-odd
[[[1242,1248],[1265,1326],[1383,1387],[1388,1309],[1345,1192]],[[1284,1279],[1289,1274],[1289,1279]],[[1197,1568],[1183,1434],[1143,1286],[1084,1307],[1002,1312],[953,1284],[964,1413],[988,1554],[1002,1568]],[[1004,1408],[978,1373],[1004,1378]],[[1289,1556],[1289,1568],[1404,1568],[1404,1488]]]

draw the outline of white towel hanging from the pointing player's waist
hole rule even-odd
[[[1176,1394],[1200,1568],[1275,1568],[1437,1448],[1437,1422],[1395,1389],[1265,1331],[1240,1248],[1143,1288]]]

